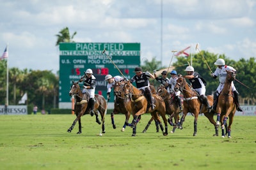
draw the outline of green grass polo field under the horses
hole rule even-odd
[[[95,117],[82,117],[67,132],[75,115],[1,115],[0,169],[255,169],[256,117],[235,117],[231,139],[212,136],[214,127],[198,118],[193,136],[193,117],[184,129],[168,136],[152,124],[142,133],[150,115],[142,116],[137,136],[132,129],[121,132],[125,116],[115,115],[116,129],[106,116],[106,134],[99,136]],[[216,117],[215,117],[216,118]],[[131,120],[130,120],[131,122]],[[221,133],[221,130],[220,130]]]

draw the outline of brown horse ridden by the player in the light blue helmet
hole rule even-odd
[[[164,103],[166,106],[166,114],[169,116],[167,121],[170,125],[173,126],[173,131],[171,131],[171,133],[173,133],[176,129],[177,124],[179,123],[179,113],[180,113],[179,106],[174,101],[174,96],[169,94],[164,86],[159,86],[157,88],[156,94],[158,96],[161,96],[164,100]],[[173,122],[172,122],[173,117],[175,118],[175,124],[173,124]],[[143,132],[147,131],[148,127],[150,126],[150,124],[152,123],[153,120],[154,120],[154,118],[152,117],[150,119],[150,121],[148,122],[147,126],[145,127],[145,129],[143,130]]]

